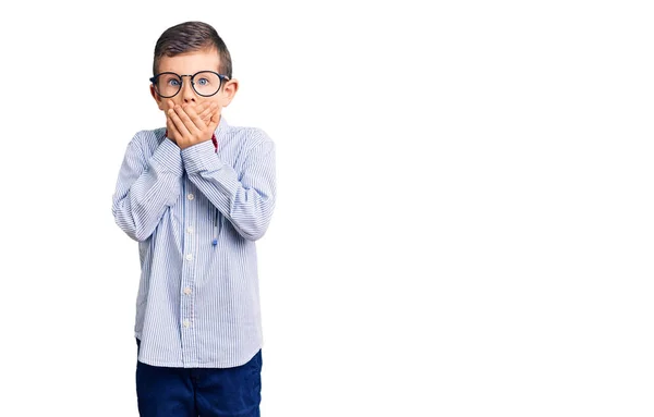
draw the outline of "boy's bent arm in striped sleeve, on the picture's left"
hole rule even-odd
[[[143,242],[178,199],[183,168],[180,148],[169,138],[165,138],[147,160],[138,135],[128,145],[118,174],[112,212],[120,229],[133,240]]]

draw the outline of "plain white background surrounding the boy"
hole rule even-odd
[[[169,26],[277,144],[264,417],[652,416],[654,25],[635,1],[3,7],[0,415],[137,416],[111,195]]]

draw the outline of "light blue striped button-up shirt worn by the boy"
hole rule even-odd
[[[217,152],[211,140],[180,150],[165,133],[136,133],[113,194],[117,224],[138,242],[138,360],[243,365],[263,346],[255,241],[275,208],[275,143],[225,116]]]

